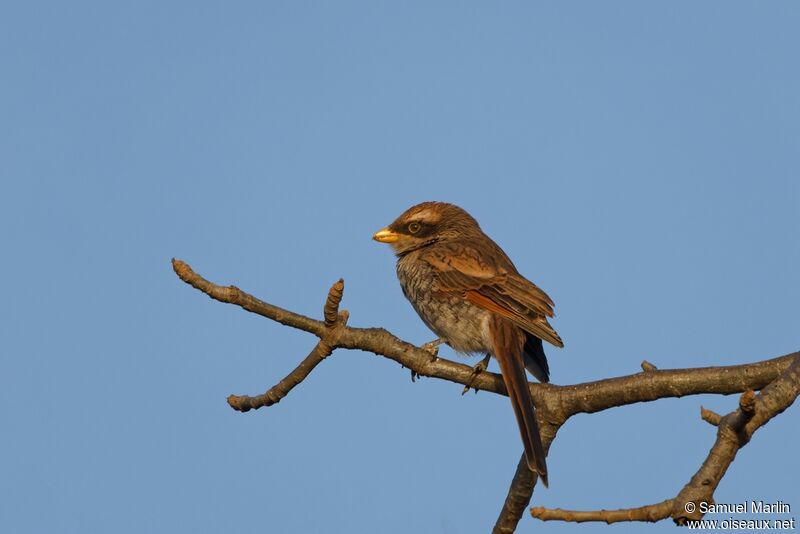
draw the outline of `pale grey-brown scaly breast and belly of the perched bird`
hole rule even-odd
[[[436,271],[414,256],[397,261],[403,293],[423,322],[459,352],[490,352],[490,312],[464,300],[462,293],[441,291]]]

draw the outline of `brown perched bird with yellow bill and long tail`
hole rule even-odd
[[[549,381],[542,340],[564,343],[547,322],[553,301],[517,271],[463,209],[423,202],[373,239],[397,255],[406,298],[440,340],[460,353],[492,355],[508,390],[528,466],[547,485],[547,465],[525,369]]]

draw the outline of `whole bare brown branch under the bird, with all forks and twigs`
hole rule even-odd
[[[328,292],[323,308],[325,320],[318,321],[264,302],[235,286],[224,287],[213,284],[195,273],[181,260],[173,259],[172,265],[181,280],[215,300],[235,304],[247,311],[320,338],[311,353],[267,392],[255,397],[231,395],[228,402],[236,410],[248,411],[279,402],[337,348],[372,352],[400,363],[416,375],[447,380],[476,391],[507,395],[502,377],[496,373],[482,371],[475,374],[473,368],[438,358],[430,351],[407,343],[383,328],[347,326],[347,312],[338,311],[344,290],[342,280],[336,282]],[[752,410],[749,412],[747,410],[750,408],[746,405],[740,407],[734,414],[722,418],[713,412],[707,410],[704,412],[704,419],[718,427],[717,443],[700,471],[675,499],[640,508],[613,511],[576,512],[533,508],[531,513],[543,520],[564,521],[657,521],[670,515],[676,521],[685,520],[686,517],[682,518],[678,513],[679,508],[683,506],[681,503],[689,502],[687,499],[710,500],[719,480],[733,461],[736,451],[750,439],[757,428],[783,411],[797,397],[797,362],[800,361],[798,354],[800,353],[751,364],[697,369],[660,370],[645,361],[642,362],[642,372],[628,376],[567,386],[530,384],[531,396],[538,408],[537,419],[546,451],[559,428],[571,416],[578,413],[596,413],[609,408],[668,397],[702,393],[729,395],[764,389],[761,395],[754,397]],[[794,383],[791,382],[792,379]],[[735,414],[738,415],[733,417]],[[731,435],[736,437],[734,448],[731,448],[733,447]],[[711,461],[712,455],[715,457],[713,461]],[[726,458],[727,461],[723,461]],[[508,496],[495,524],[496,533],[513,532],[525,507],[530,503],[537,479],[525,464],[523,457],[517,466]]]

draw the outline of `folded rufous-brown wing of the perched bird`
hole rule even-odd
[[[465,300],[495,312],[556,347],[558,333],[547,322],[553,301],[536,284],[517,273],[502,250],[490,241],[491,251],[474,244],[440,244],[424,259],[435,269],[437,290],[461,293]],[[496,250],[494,250],[496,249]]]

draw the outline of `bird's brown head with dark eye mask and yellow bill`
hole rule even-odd
[[[372,239],[389,243],[402,255],[437,241],[481,233],[478,222],[454,204],[423,202],[408,208],[395,221],[375,232]]]

